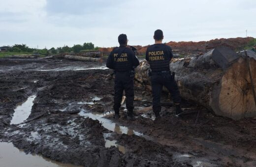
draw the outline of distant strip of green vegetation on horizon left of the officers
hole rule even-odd
[[[35,48],[29,48],[26,44],[15,44],[13,46],[8,46],[7,51],[0,52],[0,57],[3,56],[11,56],[11,55],[32,55],[36,54],[39,56],[46,56],[46,55],[56,55],[59,53],[79,53],[79,52],[85,52],[85,51],[95,51],[98,50],[99,47],[95,47],[93,43],[84,43],[83,45],[74,45],[73,47],[59,47],[57,49],[51,48],[51,49],[35,49]]]

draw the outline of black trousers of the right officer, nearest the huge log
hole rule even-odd
[[[151,87],[153,94],[153,111],[159,113],[161,111],[161,92],[162,86],[165,86],[171,93],[172,100],[174,104],[181,103],[181,95],[177,85],[172,75],[169,72],[152,72],[151,76]]]

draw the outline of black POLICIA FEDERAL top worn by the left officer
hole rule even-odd
[[[121,56],[118,56],[121,51],[123,51]],[[131,71],[133,67],[135,68],[138,65],[139,60],[134,52],[131,49],[122,46],[113,49],[108,56],[106,63],[108,68],[114,69],[117,72]]]

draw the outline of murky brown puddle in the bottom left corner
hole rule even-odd
[[[78,167],[39,155],[26,154],[12,143],[0,142],[0,148],[0,167]]]

